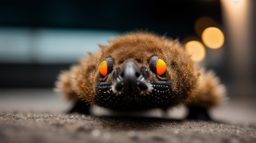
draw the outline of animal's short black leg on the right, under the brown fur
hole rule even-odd
[[[208,109],[203,107],[188,107],[188,115],[186,119],[193,120],[212,120],[209,115]]]

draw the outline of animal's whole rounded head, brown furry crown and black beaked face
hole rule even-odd
[[[193,63],[174,41],[148,33],[118,37],[98,59],[94,102],[115,110],[166,108],[197,85]]]

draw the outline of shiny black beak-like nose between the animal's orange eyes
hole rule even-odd
[[[139,92],[139,90],[148,89],[147,83],[137,64],[132,61],[125,63],[118,75],[115,89],[125,92]]]

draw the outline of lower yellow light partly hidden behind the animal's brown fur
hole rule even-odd
[[[191,55],[191,59],[200,62],[205,57],[205,48],[204,45],[199,41],[189,41],[185,44],[185,49],[189,55]]]

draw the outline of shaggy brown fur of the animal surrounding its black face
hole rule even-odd
[[[67,99],[84,100],[90,105],[98,105],[98,65],[103,60],[112,57],[113,69],[122,67],[127,60],[135,62],[139,68],[149,69],[148,59],[152,55],[157,55],[167,64],[167,76],[172,82],[171,90],[175,94],[172,99],[174,102],[169,107],[184,103],[187,106],[209,108],[218,105],[225,95],[224,86],[220,85],[217,77],[212,72],[205,73],[203,68],[196,65],[177,40],[152,33],[133,32],[117,37],[109,45],[99,46],[101,51],[89,53],[88,58],[81,59],[71,70],[61,72],[56,87]],[[147,80],[157,79],[150,71]],[[107,81],[113,83],[114,76],[109,76]]]

